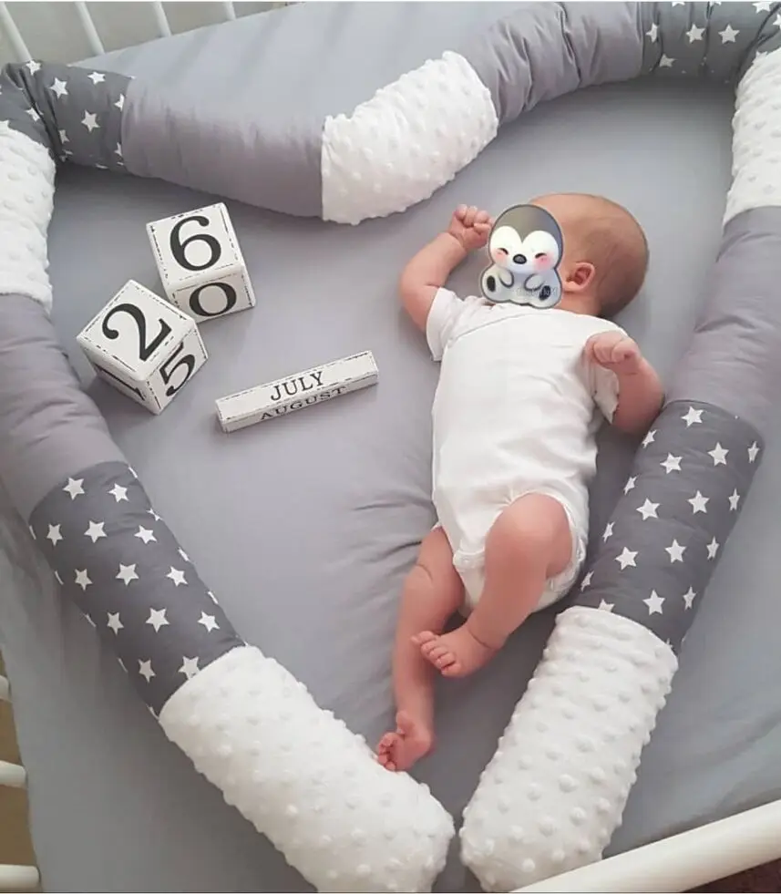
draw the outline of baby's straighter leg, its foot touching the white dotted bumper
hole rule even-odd
[[[453,551],[445,532],[436,528],[421,544],[401,595],[393,653],[396,730],[377,745],[377,759],[389,770],[409,769],[434,743],[434,671],[413,637],[424,630],[441,632],[462,599]]]

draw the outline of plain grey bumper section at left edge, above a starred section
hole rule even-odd
[[[0,295],[0,312],[0,478],[28,518],[76,469],[123,457],[41,304]]]

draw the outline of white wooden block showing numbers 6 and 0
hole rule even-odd
[[[221,202],[152,221],[147,233],[170,302],[198,323],[254,306],[239,241]]]

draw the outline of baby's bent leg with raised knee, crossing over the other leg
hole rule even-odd
[[[571,553],[570,524],[558,500],[529,494],[511,503],[488,532],[486,582],[475,610],[452,633],[418,634],[424,657],[445,676],[478,670],[534,611]]]

